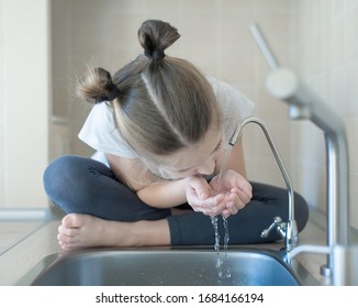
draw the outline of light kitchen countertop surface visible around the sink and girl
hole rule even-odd
[[[13,223],[21,226],[22,222]],[[8,224],[8,227],[9,226],[10,224]],[[22,234],[21,240],[18,241],[16,244],[10,245],[2,252],[0,255],[0,285],[16,285],[16,283],[45,256],[63,252],[56,239],[58,226],[59,220],[43,222],[40,226],[33,224],[34,229],[30,233]],[[312,222],[309,222],[306,228],[300,233],[300,244],[324,245],[324,243],[325,231]],[[283,243],[278,242],[254,246],[279,250],[283,246]],[[320,266],[324,264],[326,260],[324,255],[303,253],[298,256],[298,260],[315,279],[323,285],[325,284],[324,277],[320,275]]]

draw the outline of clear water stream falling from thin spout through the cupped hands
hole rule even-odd
[[[222,186],[222,182],[223,182],[223,173],[226,169],[226,164],[228,161],[228,156],[230,153],[232,151],[232,145],[230,145],[226,150],[225,153],[225,158],[223,162],[223,165],[221,167],[220,174],[219,174],[219,179],[217,179],[217,191],[220,191],[220,188]],[[216,264],[215,267],[217,270],[217,276],[219,279],[227,279],[231,278],[232,276],[232,268],[231,265],[227,262],[227,246],[228,246],[228,240],[230,240],[230,233],[228,233],[228,223],[227,223],[227,219],[222,216],[222,220],[223,220],[223,227],[224,227],[224,231],[225,231],[225,235],[224,235],[224,260],[222,260],[221,254],[220,254],[220,234],[219,234],[219,217],[214,216],[211,217],[211,223],[213,224],[214,228],[214,234],[215,234],[215,243],[214,243],[214,249],[216,251]],[[223,274],[223,272],[226,272],[225,274]]]

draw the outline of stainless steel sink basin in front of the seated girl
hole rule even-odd
[[[230,274],[230,275],[226,275]],[[247,285],[298,286],[302,282],[268,250],[89,250],[45,257],[20,285]]]

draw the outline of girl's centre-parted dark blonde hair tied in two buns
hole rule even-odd
[[[143,161],[200,142],[220,125],[215,96],[188,61],[165,55],[180,37],[169,23],[148,20],[138,30],[144,54],[111,76],[103,68],[79,80],[78,95],[92,103],[111,101],[118,129]]]

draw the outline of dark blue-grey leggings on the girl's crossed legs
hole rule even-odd
[[[253,199],[237,215],[228,217],[230,243],[272,242],[279,238],[271,232],[267,239],[260,233],[273,217],[288,219],[288,193],[278,187],[251,183]],[[171,245],[212,245],[214,231],[208,216],[189,211],[171,216],[169,209],[156,209],[144,204],[134,191],[120,183],[112,170],[100,162],[79,156],[61,156],[53,161],[44,173],[48,198],[66,213],[88,213],[107,220],[138,221],[167,219]],[[309,219],[309,207],[294,196],[295,219],[301,231]],[[188,205],[182,208],[191,209]],[[224,234],[223,224],[219,223]]]

